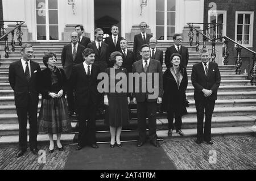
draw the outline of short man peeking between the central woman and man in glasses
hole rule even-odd
[[[133,72],[133,62],[134,62],[134,54],[131,50],[127,49],[127,40],[122,39],[120,41],[121,50],[119,52],[123,55],[123,64],[122,67],[127,69],[128,73]]]

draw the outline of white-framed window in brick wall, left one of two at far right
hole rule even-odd
[[[222,34],[222,36],[226,36],[226,11],[212,11],[209,10],[208,11],[208,23],[221,23],[221,26],[218,26],[216,28],[216,37],[220,37],[220,35]],[[213,28],[210,28],[210,37],[213,36]]]

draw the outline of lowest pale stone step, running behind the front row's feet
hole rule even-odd
[[[167,136],[167,132],[168,130],[159,130],[156,132],[156,134],[158,134],[158,137],[161,139],[169,139],[169,138],[173,138],[173,137],[179,137],[179,138],[184,138],[184,137],[196,137],[196,128],[193,129],[183,129],[183,132],[185,133],[185,136],[180,137],[179,134],[177,133],[173,133],[172,137],[168,137]],[[212,136],[228,136],[228,135],[247,135],[247,134],[251,134],[254,135],[256,132],[256,128],[255,126],[249,126],[249,127],[220,127],[220,128],[212,128]],[[129,132],[128,132],[129,133]],[[122,132],[121,134],[121,140],[122,141],[136,141],[135,137],[138,138],[138,134],[135,135],[133,137],[129,136],[128,139],[129,140],[124,140],[124,134],[126,134],[126,132]],[[76,134],[61,134],[61,141],[65,142],[67,144],[74,144],[74,141],[76,138]],[[29,138],[29,137],[28,137]],[[101,141],[98,141],[100,139],[100,136],[96,136],[97,138],[97,143],[100,144],[102,143]],[[131,140],[131,138],[133,138],[133,140]],[[53,139],[56,140],[56,134],[53,135]],[[0,137],[0,144],[18,144],[18,140],[19,140],[19,136],[18,135],[14,135],[14,136],[2,136]],[[107,140],[106,142],[109,142],[110,140],[110,134],[108,133],[108,137],[105,138],[105,140]],[[39,134],[37,137],[37,141],[38,142],[49,142],[49,138],[48,138],[48,134]],[[214,141],[214,139],[213,139]]]

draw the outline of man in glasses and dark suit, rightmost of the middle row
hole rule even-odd
[[[166,67],[170,67],[170,57],[172,53],[179,53],[181,55],[181,61],[180,65],[182,65],[184,68],[187,68],[188,65],[188,48],[181,45],[181,41],[183,40],[181,34],[174,34],[174,45],[171,47],[168,47],[166,49],[166,55],[164,56],[164,64],[166,64]]]

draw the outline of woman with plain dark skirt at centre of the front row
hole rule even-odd
[[[107,106],[105,124],[109,125],[110,128],[110,147],[114,148],[116,141],[116,145],[120,148],[122,146],[120,141],[122,126],[128,124],[129,119],[128,105],[130,103],[130,97],[127,88],[127,70],[121,67],[123,60],[122,53],[120,52],[113,52],[110,54],[110,62],[112,65],[114,64],[114,66],[113,68],[106,69],[106,73],[109,75],[109,92],[105,92],[104,95],[104,104]],[[113,81],[115,82],[113,86],[117,85],[120,81],[120,79],[115,79],[118,73],[125,75],[123,84],[121,86],[117,86],[121,89],[123,88],[122,90],[125,90],[120,93],[115,90],[115,87],[111,87],[110,83]],[[111,89],[114,89],[114,92],[111,92]]]

